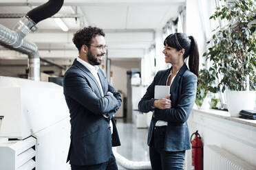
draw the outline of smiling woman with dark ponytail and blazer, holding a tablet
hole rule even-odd
[[[195,103],[198,83],[198,45],[193,36],[175,33],[164,40],[165,62],[171,69],[158,71],[138,104],[141,112],[153,111],[147,144],[153,170],[182,169],[185,151],[191,148],[186,123]],[[184,59],[189,57],[189,69]],[[170,95],[154,99],[155,87],[171,86]]]

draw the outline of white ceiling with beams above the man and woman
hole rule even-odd
[[[0,14],[26,14],[45,2],[0,0]],[[45,19],[36,25],[38,31],[28,34],[25,39],[35,42],[44,58],[74,58],[77,50],[72,37],[83,21],[85,25],[105,30],[109,58],[141,58],[153,44],[156,30],[162,29],[169,19],[175,19],[178,7],[184,3],[185,0],[65,0],[58,14],[79,14],[83,18],[63,19],[70,29],[68,32],[63,32],[52,18]],[[0,24],[12,29],[18,21],[0,19]],[[0,58],[8,55],[2,52]],[[15,58],[15,53],[12,55]]]

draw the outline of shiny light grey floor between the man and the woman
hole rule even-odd
[[[149,161],[148,129],[138,129],[134,123],[125,123],[122,119],[117,119],[117,128],[121,141],[121,146],[116,149],[118,154],[128,160]],[[125,168],[118,165],[118,169]]]

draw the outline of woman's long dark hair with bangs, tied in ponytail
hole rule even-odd
[[[183,58],[189,56],[189,69],[192,73],[198,76],[199,71],[199,52],[198,44],[193,36],[186,36],[184,33],[170,34],[165,38],[164,45],[175,48],[178,51],[185,50]]]

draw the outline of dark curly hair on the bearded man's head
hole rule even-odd
[[[83,29],[79,29],[74,34],[72,40],[74,42],[74,45],[76,45],[78,51],[80,51],[83,45],[90,45],[92,42],[92,38],[94,38],[95,36],[105,36],[103,29],[89,26],[84,27]]]

